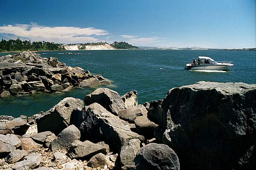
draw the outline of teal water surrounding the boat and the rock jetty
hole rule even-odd
[[[218,50],[116,50],[68,51],[84,54],[44,52],[42,57],[57,57],[72,67],[79,66],[92,74],[102,74],[112,85],[104,86],[120,95],[137,90],[139,103],[163,99],[169,89],[198,81],[245,82],[256,84],[256,51]],[[88,54],[89,53],[89,54]],[[6,54],[0,54],[0,56]],[[224,72],[184,70],[186,63],[198,56],[209,56],[216,61],[233,61],[233,69]],[[163,68],[163,69],[160,69]],[[0,98],[0,115],[32,115],[47,111],[61,99],[71,96],[83,99],[94,88],[76,88],[65,94],[36,94]]]

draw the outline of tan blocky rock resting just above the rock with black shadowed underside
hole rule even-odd
[[[127,109],[120,110],[118,116],[129,123],[134,123],[137,116],[147,116],[148,111],[143,105],[137,105]]]

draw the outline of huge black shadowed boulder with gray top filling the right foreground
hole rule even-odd
[[[256,85],[198,82],[172,88],[155,131],[184,170],[256,167]]]

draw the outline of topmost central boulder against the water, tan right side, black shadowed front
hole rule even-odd
[[[85,105],[99,103],[111,113],[118,115],[118,111],[125,109],[125,103],[121,96],[108,88],[98,88],[93,93],[84,97]]]

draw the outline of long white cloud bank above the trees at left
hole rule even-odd
[[[0,34],[12,34],[12,36],[15,35],[20,38],[29,38],[32,41],[79,43],[96,42],[98,41],[97,38],[89,36],[107,35],[108,32],[93,27],[49,27],[31,23],[0,26]]]

